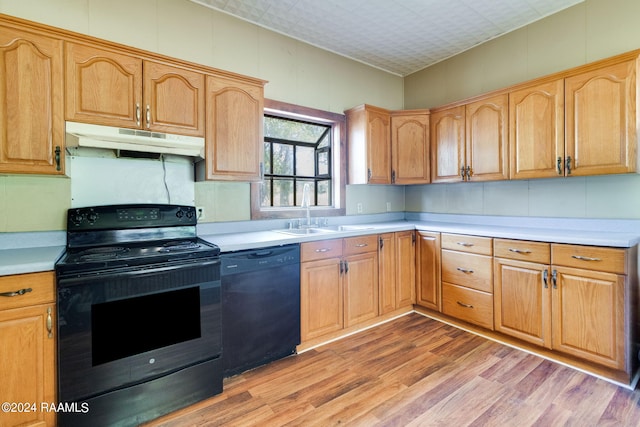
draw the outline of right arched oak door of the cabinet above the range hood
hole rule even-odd
[[[204,74],[144,62],[144,127],[204,136]]]

